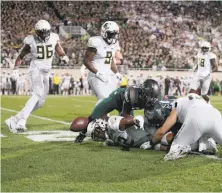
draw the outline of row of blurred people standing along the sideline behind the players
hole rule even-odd
[[[82,69],[82,68],[81,68]],[[93,95],[88,81],[87,72],[80,71],[81,78],[74,78],[70,73],[65,72],[57,74],[52,72],[49,77],[49,93],[50,95]],[[161,74],[157,76],[139,76],[127,74],[119,87],[127,87],[142,84],[146,79],[154,79],[161,88],[161,96],[184,96],[190,91],[190,83],[193,76],[165,76]],[[30,84],[26,73],[11,74],[3,71],[1,74],[0,90],[2,95],[30,95]],[[213,79],[209,89],[209,95],[222,96],[222,79]]]

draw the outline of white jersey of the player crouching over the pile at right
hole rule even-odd
[[[172,107],[176,108],[178,121],[181,123],[184,123],[186,114],[190,108],[199,107],[199,106],[209,107],[210,105],[201,96],[194,93],[176,99],[172,103]]]

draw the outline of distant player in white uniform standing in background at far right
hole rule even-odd
[[[210,48],[211,45],[209,42],[202,42],[201,52],[197,54],[197,73],[190,85],[191,93],[195,93],[196,90],[201,87],[201,96],[207,102],[210,100],[207,93],[212,79],[211,72],[216,72],[218,69],[216,55],[210,52]]]

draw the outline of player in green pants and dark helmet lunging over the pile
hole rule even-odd
[[[88,117],[88,123],[103,117],[113,110],[118,110],[123,117],[128,117],[133,109],[149,108],[150,105],[158,100],[158,96],[158,83],[152,79],[147,79],[142,85],[119,88],[95,106]],[[75,143],[81,143],[86,137],[86,132],[87,128],[80,132],[75,139]]]

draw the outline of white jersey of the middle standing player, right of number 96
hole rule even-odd
[[[96,48],[97,52],[92,60],[92,65],[103,73],[112,73],[110,65],[115,57],[115,52],[120,50],[119,42],[115,44],[107,44],[101,36],[94,36],[89,38],[88,47]]]

